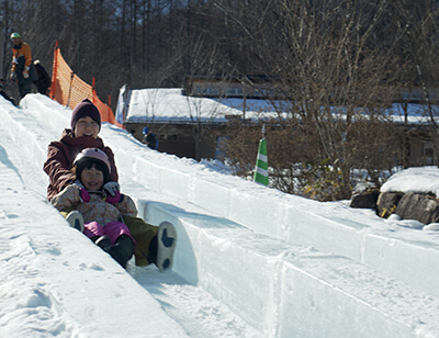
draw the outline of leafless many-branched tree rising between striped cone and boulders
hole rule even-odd
[[[218,5],[227,11],[224,3]],[[251,41],[254,68],[280,81],[291,101],[289,117],[279,123],[285,128],[299,123],[305,134],[316,136],[309,138],[314,145],[302,144],[317,151],[309,151],[309,162],[314,168],[325,164],[337,198],[349,198],[358,137],[353,124],[385,114],[380,108],[391,103],[385,81],[395,44],[383,47],[375,41],[389,1],[248,0],[241,5],[247,10],[227,14]]]

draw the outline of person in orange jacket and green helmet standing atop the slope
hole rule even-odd
[[[10,80],[19,84],[20,98],[23,99],[32,92],[33,81],[36,80],[32,63],[32,49],[16,32],[11,34],[11,41],[13,46]]]

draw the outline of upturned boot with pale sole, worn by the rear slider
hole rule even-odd
[[[169,222],[161,223],[158,227],[156,240],[157,254],[155,255],[156,257],[153,257],[153,261],[158,270],[164,272],[172,267],[173,251],[177,244],[176,227]],[[151,243],[151,245],[154,246],[155,244]]]

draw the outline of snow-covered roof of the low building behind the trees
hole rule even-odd
[[[263,99],[214,99],[194,98],[182,94],[181,88],[135,89],[128,91],[128,105],[125,122],[131,123],[225,123],[230,116],[257,122],[286,116],[291,110],[291,102]],[[439,106],[432,106],[434,115],[438,116]],[[278,111],[278,112],[277,112]],[[335,109],[335,113],[342,114],[342,109]],[[359,109],[360,113],[362,109]],[[283,112],[283,113],[282,113]],[[430,122],[428,109],[424,104],[409,103],[407,105],[407,121],[409,124],[428,124]],[[404,123],[402,104],[394,103],[385,111],[385,115],[395,123]]]

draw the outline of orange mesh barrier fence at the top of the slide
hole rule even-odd
[[[103,103],[97,95],[93,86],[82,81],[68,66],[61,56],[56,42],[54,52],[54,64],[52,71],[52,86],[50,86],[50,98],[63,105],[68,105],[74,109],[83,99],[89,99],[98,108],[101,113],[102,122],[110,122],[119,127],[123,128],[115,119],[113,111],[109,104]],[[110,100],[110,97],[109,97]]]

